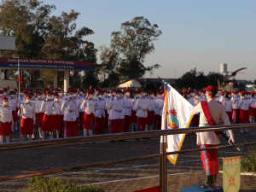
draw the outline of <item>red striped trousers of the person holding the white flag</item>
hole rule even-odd
[[[205,148],[217,147],[217,145],[204,145],[204,146]],[[201,148],[202,148],[202,145],[201,145]],[[205,159],[205,155],[206,155],[206,159]],[[207,176],[218,175],[218,149],[201,151],[201,161],[203,163]]]

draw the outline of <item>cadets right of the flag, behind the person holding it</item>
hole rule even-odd
[[[194,107],[201,101],[206,101],[205,91],[189,90],[179,92]],[[255,123],[256,116],[256,91],[221,91],[220,96],[215,96],[216,101],[221,102],[233,123]],[[195,114],[191,126],[199,125],[199,114]],[[249,133],[247,129],[240,131],[241,134]]]

